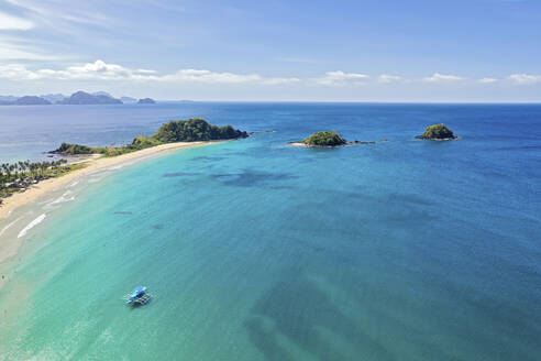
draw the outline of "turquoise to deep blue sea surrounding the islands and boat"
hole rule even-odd
[[[0,265],[0,360],[540,360],[541,106],[2,107],[0,157],[190,117],[274,132],[0,220],[24,239]],[[413,139],[433,123],[462,139]],[[389,141],[288,144],[327,129]],[[128,307],[137,285],[153,298]]]

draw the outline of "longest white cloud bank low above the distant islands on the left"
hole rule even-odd
[[[103,61],[69,66],[62,70],[30,70],[21,64],[0,65],[0,78],[11,80],[58,79],[58,80],[132,80],[132,81],[170,81],[170,83],[205,83],[205,84],[261,84],[279,85],[297,83],[298,78],[265,78],[257,74],[217,73],[206,69],[180,69],[174,74],[157,75],[153,69],[130,69],[118,64]]]

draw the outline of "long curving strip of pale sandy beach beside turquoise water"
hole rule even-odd
[[[45,179],[43,182],[33,185],[30,189],[25,190],[24,193],[16,193],[11,197],[4,198],[3,204],[0,206],[0,220],[8,218],[14,209],[27,205],[30,203],[36,201],[41,197],[47,195],[48,193],[59,189],[77,178],[110,168],[111,166],[120,165],[123,163],[133,163],[147,158],[150,156],[156,156],[159,155],[161,153],[184,150],[195,146],[203,146],[213,143],[216,142],[167,143],[167,144],[162,144],[162,145],[144,149],[141,151],[136,151],[133,153],[122,154],[114,157],[87,156],[87,157],[79,157],[75,160],[70,158],[69,160],[70,163],[85,162],[88,165],[85,168],[74,171],[58,178]],[[37,219],[36,221],[40,222],[41,220]],[[2,233],[8,231],[8,229],[11,227],[11,223],[5,222],[5,225],[2,226],[3,228],[0,230],[1,232],[0,236],[3,236]],[[18,251],[22,245],[23,239],[24,238],[15,238],[15,237],[10,237],[9,239],[5,239],[5,237],[3,237],[3,239],[0,240],[0,263],[18,254]],[[0,285],[1,284],[2,284],[2,280],[0,280]]]

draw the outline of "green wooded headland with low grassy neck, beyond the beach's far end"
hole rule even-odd
[[[247,136],[249,134],[246,132],[234,129],[231,125],[211,125],[202,118],[191,118],[188,120],[172,120],[159,127],[154,135],[135,136],[131,144],[122,146],[88,146],[62,143],[58,149],[51,153],[62,155],[102,154],[103,156],[117,156],[166,143],[222,141]]]

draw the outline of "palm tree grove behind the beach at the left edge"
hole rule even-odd
[[[2,198],[18,192],[24,192],[33,184],[48,178],[60,177],[86,166],[86,163],[67,164],[67,160],[0,164],[0,205],[2,204]]]

